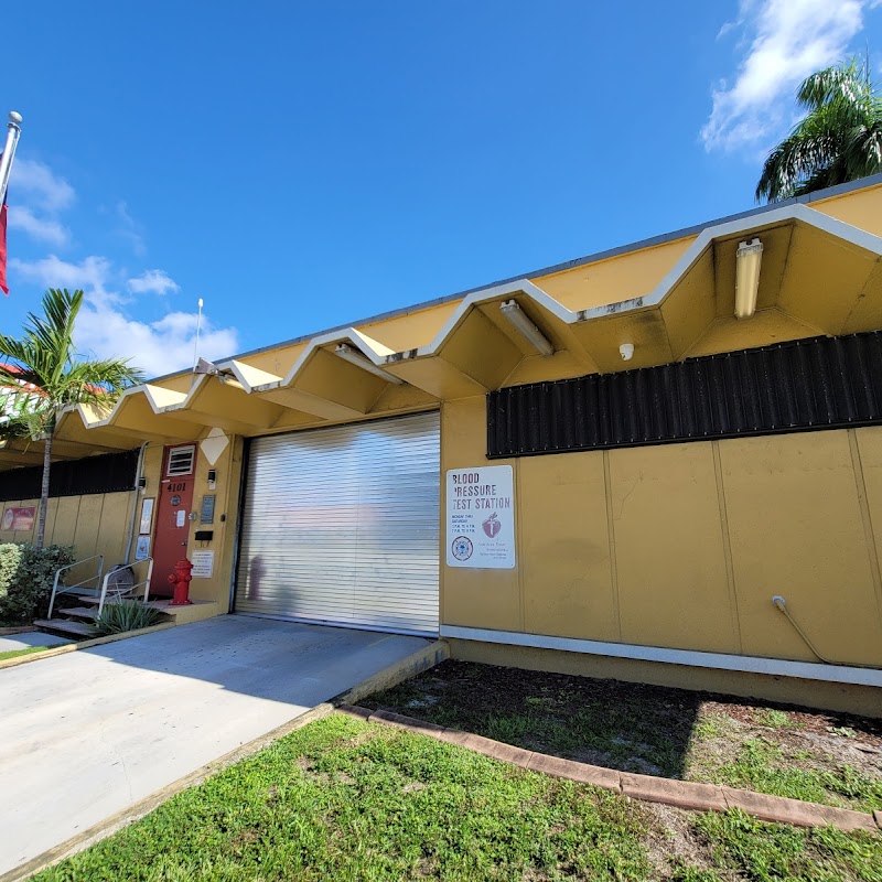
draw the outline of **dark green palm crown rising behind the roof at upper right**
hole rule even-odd
[[[756,201],[802,196],[882,171],[882,93],[857,58],[811,74],[796,93],[807,110],[770,154]]]

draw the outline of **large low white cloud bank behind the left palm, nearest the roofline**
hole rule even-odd
[[[99,358],[129,358],[148,376],[160,376],[192,366],[197,314],[168,312],[153,322],[139,321],[130,314],[137,300],[123,297],[116,287],[118,273],[106,257],[90,256],[79,263],[50,255],[42,260],[11,260],[10,269],[28,281],[44,288],[83,288],[86,300],[77,316],[76,344],[83,353]],[[174,282],[162,270],[148,270]],[[176,289],[176,286],[175,286]],[[238,348],[235,327],[215,327],[203,314],[200,355],[223,358]]]

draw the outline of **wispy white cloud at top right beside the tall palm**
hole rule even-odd
[[[843,58],[863,28],[868,0],[741,0],[738,31],[744,53],[734,83],[713,92],[701,129],[707,150],[756,147],[793,123],[794,94],[810,73]]]

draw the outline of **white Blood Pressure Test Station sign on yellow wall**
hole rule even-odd
[[[515,494],[510,465],[448,472],[448,567],[515,566]]]

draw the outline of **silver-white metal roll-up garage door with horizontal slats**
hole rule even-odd
[[[259,438],[237,613],[438,633],[438,413]]]

